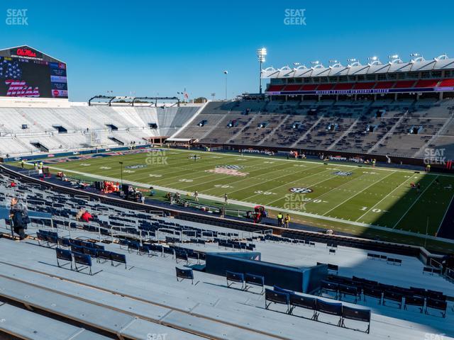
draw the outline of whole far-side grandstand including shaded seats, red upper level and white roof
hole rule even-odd
[[[267,68],[262,77],[266,96],[210,103],[172,137],[409,164],[433,149],[454,158],[452,58]]]

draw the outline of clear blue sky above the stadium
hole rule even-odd
[[[28,26],[6,25],[9,8],[26,8]],[[284,25],[287,8],[304,8],[306,26]],[[229,97],[258,91],[262,46],[265,67],[454,57],[453,10],[452,1],[2,1],[0,48],[31,45],[67,62],[71,101],[184,88],[223,98],[224,69]]]

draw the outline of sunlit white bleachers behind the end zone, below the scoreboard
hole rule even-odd
[[[0,108],[0,156],[145,145],[149,138],[175,133],[199,108],[82,103],[70,108]]]

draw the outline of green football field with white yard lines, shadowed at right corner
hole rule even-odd
[[[200,197],[222,202],[227,193],[231,202],[248,207],[260,204],[326,223],[349,222],[419,234],[426,234],[427,228],[429,235],[438,232],[454,195],[453,176],[249,154],[154,149],[47,162],[68,176],[73,171],[118,181],[123,166],[124,181],[145,187],[182,194],[198,191]]]

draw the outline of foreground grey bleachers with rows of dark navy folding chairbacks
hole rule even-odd
[[[11,242],[0,210],[1,336],[454,336],[453,285],[441,275],[441,256],[424,249],[271,233],[248,222],[125,203],[75,183],[62,187],[9,166],[0,171],[2,205],[18,196],[32,220],[29,238]],[[81,206],[94,220],[76,220]]]

